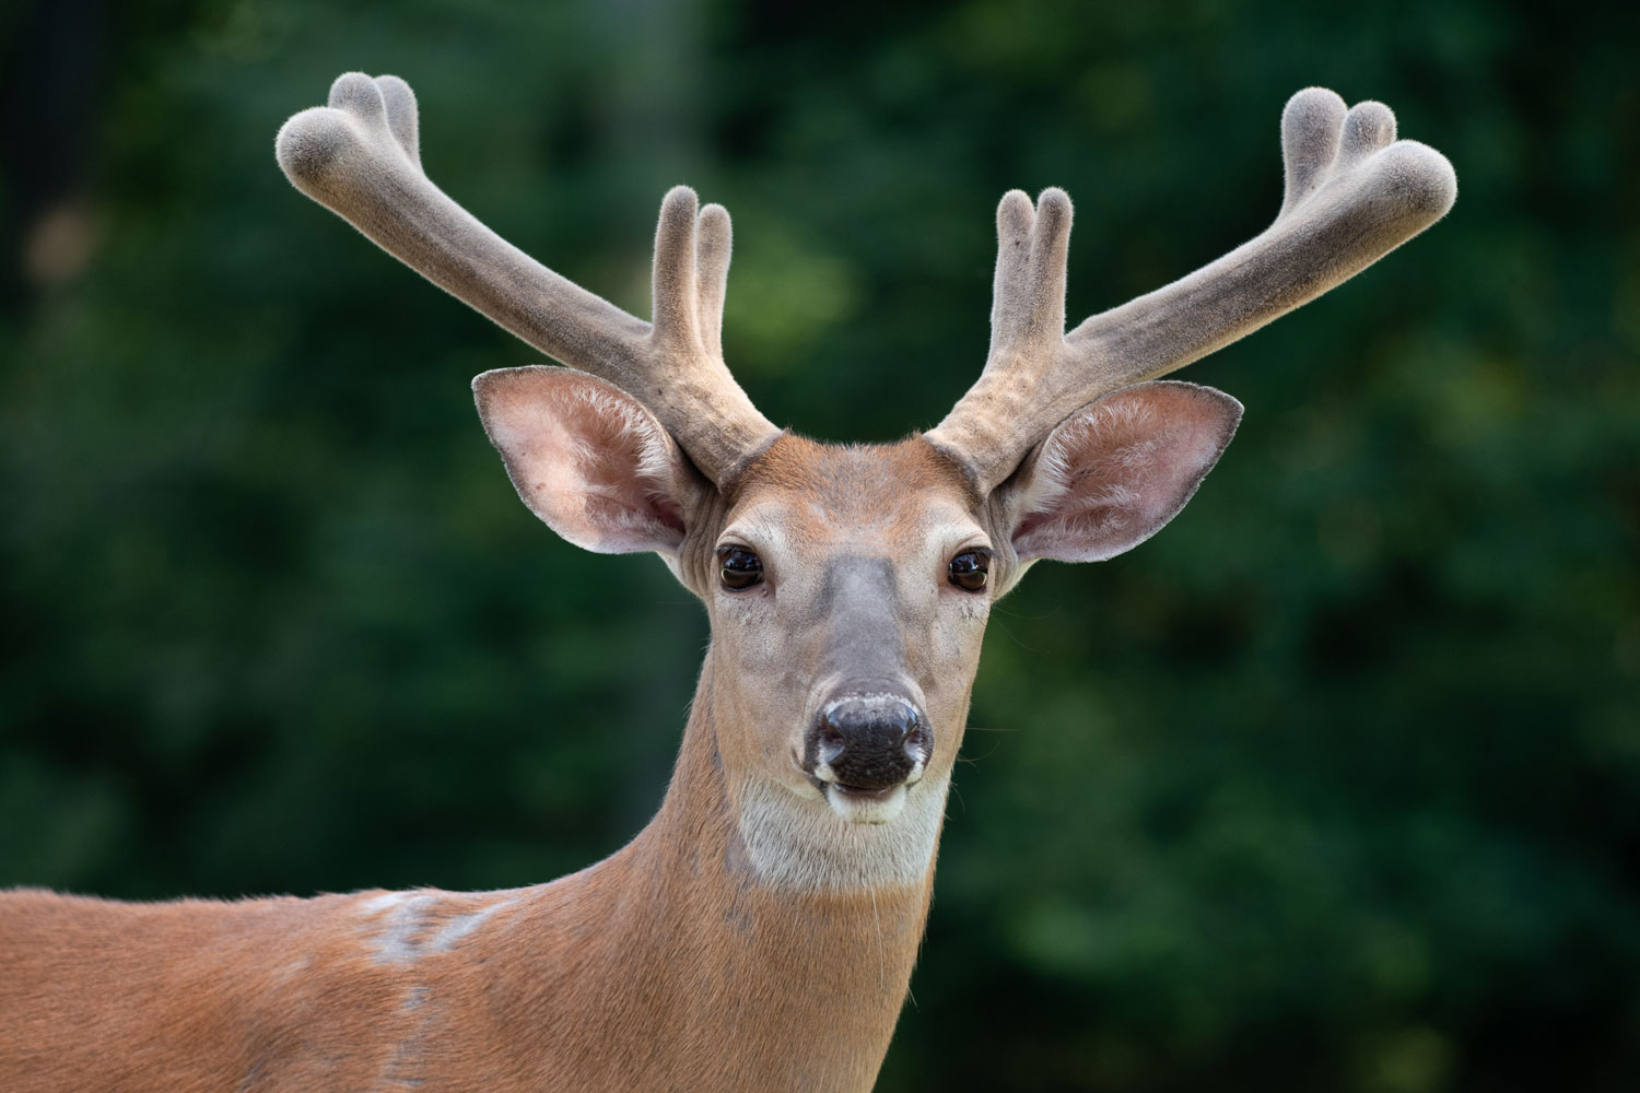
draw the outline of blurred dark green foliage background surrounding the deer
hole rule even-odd
[[[5,5],[0,885],[520,885],[661,798],[702,611],[517,501],[466,385],[540,357],[280,177],[338,72],[640,315],[659,195],[727,203],[730,361],[831,439],[974,379],[1005,188],[1102,310],[1268,223],[1323,84],[1456,210],[994,615],[881,1088],[1640,1088],[1640,21],[1547,8]]]

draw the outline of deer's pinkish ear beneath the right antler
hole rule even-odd
[[[1161,531],[1219,462],[1241,403],[1196,383],[1137,383],[1055,426],[1007,487],[1022,562],[1100,562]]]

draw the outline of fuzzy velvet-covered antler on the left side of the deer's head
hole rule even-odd
[[[330,105],[279,129],[292,184],[458,300],[648,406],[713,482],[779,429],[723,364],[730,221],[674,187],[654,236],[654,324],[559,277],[456,205],[421,170],[417,107],[395,75],[336,79]]]

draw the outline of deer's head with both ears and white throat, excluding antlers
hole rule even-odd
[[[1130,387],[991,490],[927,436],[782,434],[718,488],[602,380],[535,367],[474,387],[541,519],[594,551],[659,552],[707,605],[700,701],[743,849],[766,877],[828,887],[920,880],[991,603],[1038,559],[1104,559],[1155,533],[1241,410],[1189,383]]]

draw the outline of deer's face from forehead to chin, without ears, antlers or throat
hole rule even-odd
[[[782,436],[725,510],[686,544],[725,769],[850,823],[943,798],[1000,569],[961,470]]]

